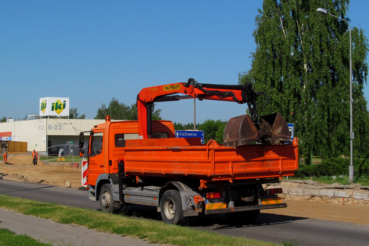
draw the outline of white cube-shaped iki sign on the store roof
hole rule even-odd
[[[69,116],[69,97],[43,97],[39,116]]]

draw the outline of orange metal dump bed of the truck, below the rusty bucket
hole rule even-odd
[[[129,175],[191,176],[200,179],[255,179],[293,175],[297,138],[291,144],[249,144],[237,148],[201,144],[199,138],[127,140],[124,169]]]

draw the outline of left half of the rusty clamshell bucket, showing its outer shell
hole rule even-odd
[[[236,147],[259,140],[259,131],[248,114],[231,118],[225,125],[224,146]]]

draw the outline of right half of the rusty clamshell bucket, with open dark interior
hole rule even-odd
[[[259,136],[262,143],[277,144],[280,142],[291,142],[287,122],[280,113],[260,117]]]

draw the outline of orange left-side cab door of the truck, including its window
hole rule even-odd
[[[104,133],[93,132],[90,137],[90,152],[89,152],[89,184],[96,185],[97,177],[104,173],[106,163],[104,162],[106,155]]]

